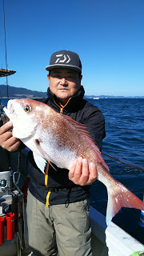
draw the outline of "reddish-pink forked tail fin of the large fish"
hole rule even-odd
[[[116,182],[116,184],[115,184]],[[122,183],[115,180],[114,190],[108,190],[108,203],[106,210],[106,224],[108,226],[111,219],[118,214],[122,207],[144,210],[144,203]],[[116,191],[116,193],[115,193]]]

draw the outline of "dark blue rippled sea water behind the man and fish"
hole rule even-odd
[[[86,98],[98,106],[106,121],[106,138],[102,151],[144,167],[144,99],[142,98]],[[7,99],[1,99],[6,105]],[[144,172],[126,166],[102,155],[110,174],[130,191],[143,198]],[[106,215],[107,192],[101,182],[94,182],[90,189],[90,205]],[[144,243],[144,227],[138,225],[140,210],[122,208],[113,222],[134,238]]]

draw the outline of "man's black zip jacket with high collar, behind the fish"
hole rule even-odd
[[[60,106],[58,106],[58,99],[54,94],[50,92],[48,88],[48,98],[43,98],[42,102],[45,102],[48,106],[51,106],[55,111],[60,112]],[[94,106],[83,99],[84,90],[78,91],[78,94],[70,99],[70,102],[62,110],[62,114],[70,116],[77,122],[80,122],[86,126],[86,130],[90,133],[99,149],[102,149],[102,139],[105,138],[105,120],[102,112],[97,106]],[[54,166],[54,164],[53,164]],[[68,170],[63,170],[57,166],[49,166],[48,170],[48,184],[45,186],[45,175],[38,169],[34,162],[33,154],[30,151],[28,154],[28,174],[30,176],[30,193],[34,195],[39,201],[46,203],[46,196],[49,189],[52,192],[50,194],[50,205],[63,204],[69,202],[78,202],[86,199],[89,194],[90,186],[77,186],[74,182],[71,182],[68,178]]]

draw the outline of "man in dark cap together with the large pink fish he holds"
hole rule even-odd
[[[78,54],[52,54],[48,98],[9,100],[10,118],[0,128],[0,146],[30,148],[27,223],[30,255],[92,255],[89,190],[96,178],[107,189],[106,224],[122,207],[144,210],[144,203],[115,180],[102,158],[105,122],[98,107],[83,99]],[[12,128],[12,129],[10,129]]]

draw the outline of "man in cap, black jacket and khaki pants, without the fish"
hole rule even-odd
[[[104,118],[98,107],[83,99],[82,64],[78,54],[69,50],[52,54],[46,70],[49,71],[48,98],[42,102],[84,124],[101,150],[105,137]],[[7,150],[17,150],[20,142],[7,130],[10,125],[9,122],[0,129],[0,145]],[[27,169],[30,176],[27,222],[31,255],[92,255],[89,190],[97,178],[94,164],[88,165],[86,159],[78,158],[70,171],[53,163],[47,164],[44,175],[30,151]]]

